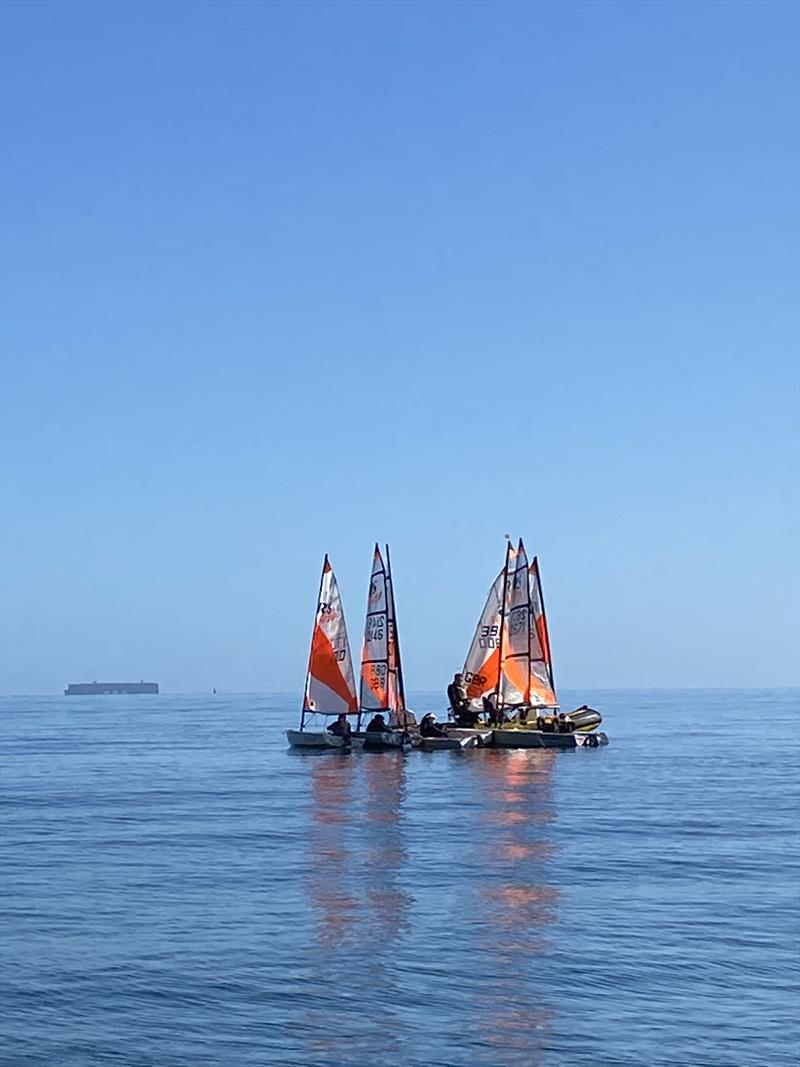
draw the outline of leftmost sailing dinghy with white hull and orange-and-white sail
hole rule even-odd
[[[353,660],[336,575],[325,556],[303,694],[300,729],[287,730],[293,748],[349,748],[349,740],[315,726],[317,716],[357,715]],[[311,729],[307,719],[311,719]]]

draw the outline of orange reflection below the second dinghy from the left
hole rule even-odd
[[[405,860],[400,822],[405,797],[405,757],[383,752],[362,761],[366,796],[363,827],[366,854],[364,865],[366,905],[384,937],[409,925],[413,896],[398,885]]]

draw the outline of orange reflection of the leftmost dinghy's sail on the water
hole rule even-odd
[[[358,904],[353,895],[348,830],[353,811],[353,765],[349,757],[310,757],[311,832],[308,885],[321,945],[341,944],[353,933]]]

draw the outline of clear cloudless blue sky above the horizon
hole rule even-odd
[[[3,691],[796,684],[799,10],[5,0]]]

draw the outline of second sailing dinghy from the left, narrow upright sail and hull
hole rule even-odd
[[[381,714],[387,729],[368,730],[364,737],[365,751],[412,747],[407,732],[413,716],[405,708],[403,666],[395,612],[395,589],[391,582],[391,560],[386,545],[386,562],[375,544],[372,573],[369,579],[367,617],[362,646],[361,716]],[[359,724],[361,724],[359,716]]]

